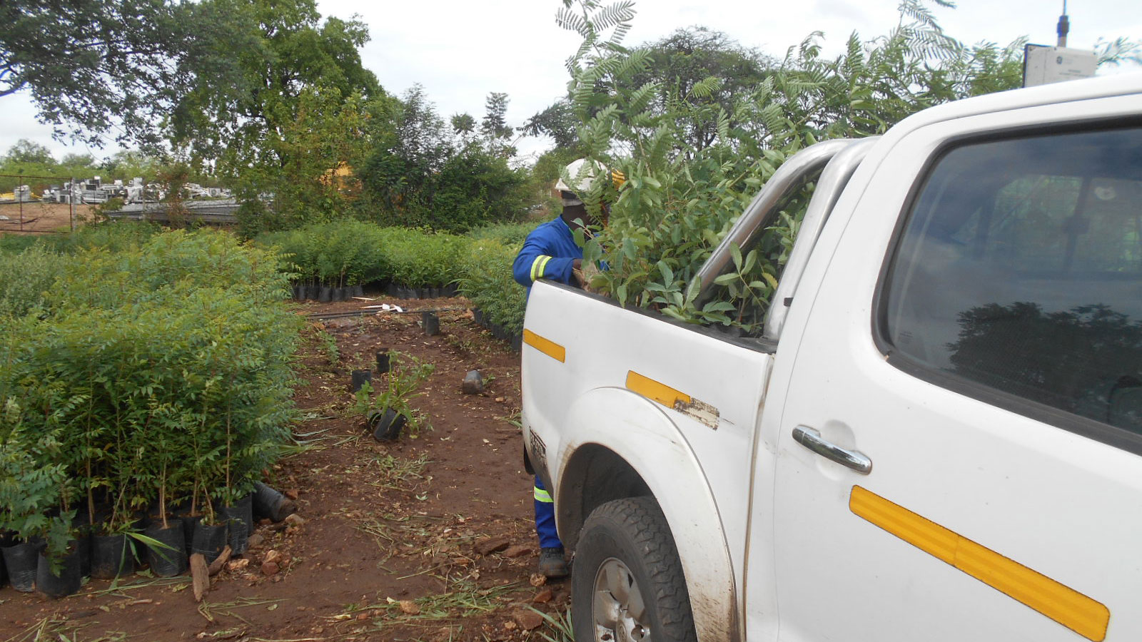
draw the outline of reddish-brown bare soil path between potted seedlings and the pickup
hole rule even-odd
[[[299,313],[360,305],[304,304]],[[531,480],[513,423],[518,355],[466,311],[440,318],[442,332],[432,337],[419,314],[312,323],[295,392],[305,412],[295,432],[309,447],[282,460],[271,479],[297,496],[304,523],[264,520],[254,538],[260,543],[214,578],[203,602],[195,603],[188,576],[90,580],[57,601],[6,587],[0,640],[557,640],[536,610],[561,617],[569,584],[533,575]],[[317,329],[336,337],[337,363]],[[346,414],[349,370],[375,364],[384,347],[436,366],[413,402],[432,428],[392,443],[373,441],[363,420]],[[460,391],[471,369],[489,379],[483,395]],[[279,557],[276,572],[263,565],[267,555]]]

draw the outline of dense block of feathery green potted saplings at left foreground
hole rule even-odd
[[[288,436],[301,320],[280,257],[222,232],[131,234],[0,256],[34,259],[39,283],[0,276],[0,529],[48,535],[33,517],[51,507],[110,513],[105,531],[176,504],[211,519]]]

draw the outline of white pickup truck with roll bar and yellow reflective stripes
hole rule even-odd
[[[926,110],[815,190],[758,337],[538,282],[580,642],[1142,640],[1142,75]]]

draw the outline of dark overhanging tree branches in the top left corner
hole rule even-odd
[[[202,7],[169,0],[3,0],[0,97],[27,90],[57,137],[156,143]]]

